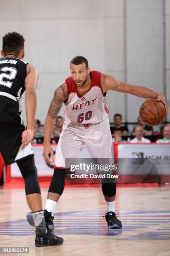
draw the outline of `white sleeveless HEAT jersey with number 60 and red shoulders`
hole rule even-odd
[[[109,115],[106,106],[106,93],[103,93],[100,78],[101,73],[90,72],[91,84],[85,95],[79,96],[72,77],[65,79],[67,84],[67,100],[65,100],[65,117],[81,124],[96,124]]]

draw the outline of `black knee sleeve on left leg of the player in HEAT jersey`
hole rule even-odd
[[[65,184],[65,176],[66,176],[65,169],[54,169],[54,174],[52,176],[48,192],[62,195],[62,192],[64,190],[64,184]]]

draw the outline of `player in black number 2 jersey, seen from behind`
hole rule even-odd
[[[38,73],[23,61],[24,38],[17,32],[2,39],[0,58],[0,153],[5,164],[16,162],[25,181],[25,193],[36,227],[35,246],[63,243],[46,225],[48,212],[43,212],[37,169],[30,142],[36,110]],[[20,97],[25,91],[27,127],[20,116]],[[45,223],[46,220],[46,223]]]

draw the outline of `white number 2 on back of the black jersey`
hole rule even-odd
[[[16,74],[17,74],[17,69],[12,68],[12,67],[2,67],[0,69],[0,71],[10,72],[9,74],[7,74],[7,73],[0,74],[0,84],[11,88],[13,82],[4,81],[3,79],[4,78],[6,78],[7,80],[14,79],[16,77]]]

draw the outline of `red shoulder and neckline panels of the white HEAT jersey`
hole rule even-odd
[[[90,88],[87,92],[89,92],[93,86],[98,86],[98,87],[100,87],[100,89],[102,91],[102,95],[105,97],[106,92],[105,93],[103,92],[102,86],[101,86],[101,74],[102,73],[95,71],[95,70],[90,71],[90,73],[91,73],[91,84],[90,84]],[[74,81],[72,80],[72,77],[67,77],[65,79],[65,82],[67,84],[67,99],[64,101],[64,103],[67,103],[68,97],[69,97],[70,93],[72,93],[72,92],[75,92],[77,94],[78,98],[82,98],[83,96],[86,95],[87,92],[82,96],[78,95],[77,87],[76,87]]]

